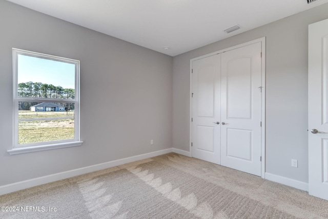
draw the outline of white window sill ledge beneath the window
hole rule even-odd
[[[35,151],[45,151],[45,150],[52,150],[58,148],[81,146],[82,143],[83,142],[66,142],[66,143],[50,144],[50,145],[38,145],[38,146],[31,146],[31,147],[13,148],[11,150],[7,150],[7,152],[10,155],[13,155],[13,154],[20,154],[20,153],[35,152]]]

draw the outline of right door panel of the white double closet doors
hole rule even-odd
[[[261,175],[261,43],[221,54],[221,165]]]

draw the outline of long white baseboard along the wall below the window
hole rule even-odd
[[[22,182],[17,182],[17,183],[0,186],[0,195],[15,192],[15,191],[22,190],[22,189],[27,189],[27,188],[30,188],[33,186],[39,186],[42,184],[55,182],[58,180],[64,180],[65,178],[69,178],[69,177],[73,177],[73,176],[77,176],[77,175],[81,175],[81,174],[85,174],[85,173],[90,173],[90,172],[94,172],[94,171],[98,171],[98,170],[103,170],[106,168],[115,167],[118,165],[127,164],[127,163],[134,162],[134,161],[139,161],[142,159],[146,159],[146,158],[150,158],[153,156],[158,156],[158,155],[162,155],[162,154],[166,154],[166,153],[170,153],[170,152],[172,152],[172,148],[154,151],[154,152],[145,153],[145,154],[140,154],[140,155],[136,155],[136,156],[122,158],[122,159],[115,160],[115,161],[96,164],[96,165],[92,165],[92,166],[88,166],[88,167],[83,167],[83,168],[79,168],[79,169],[55,173],[55,174],[46,175],[46,176],[42,176],[42,177],[32,178],[31,180],[26,180],[26,181],[22,181]],[[176,153],[178,153],[178,152],[176,152]]]

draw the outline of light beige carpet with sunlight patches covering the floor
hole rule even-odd
[[[175,153],[2,195],[0,206],[19,208],[0,218],[328,218],[328,201]]]

